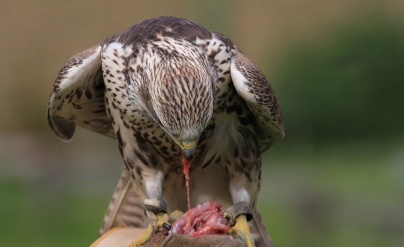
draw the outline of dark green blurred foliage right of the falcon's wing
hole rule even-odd
[[[316,141],[402,134],[403,63],[403,36],[386,22],[296,45],[274,78],[287,136]]]

